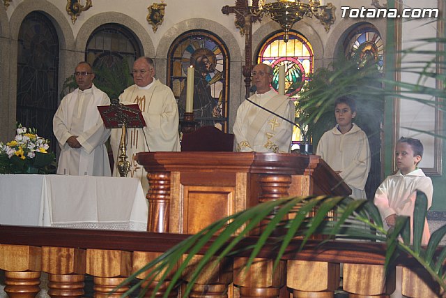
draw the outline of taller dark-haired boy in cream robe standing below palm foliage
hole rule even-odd
[[[356,117],[355,100],[341,96],[334,101],[337,125],[319,140],[316,154],[337,172],[351,188],[351,197],[366,199],[364,186],[370,170],[367,135],[352,120]]]

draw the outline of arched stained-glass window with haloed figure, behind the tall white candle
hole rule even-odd
[[[194,120],[227,131],[229,54],[222,40],[208,31],[188,31],[174,40],[167,59],[167,85],[178,101],[180,120],[185,112],[187,68],[192,65]]]

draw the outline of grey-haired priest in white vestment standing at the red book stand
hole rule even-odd
[[[146,127],[127,129],[127,156],[130,171],[127,177],[137,177],[148,191],[147,172],[135,160],[138,152],[144,151],[180,151],[178,135],[178,105],[173,92],[155,77],[153,60],[140,57],[133,64],[134,85],[124,90],[119,96],[119,103],[139,105]],[[116,162],[119,156],[121,128],[112,129],[111,144],[115,158],[113,175],[119,177]]]

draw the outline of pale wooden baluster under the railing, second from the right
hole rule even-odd
[[[348,297],[390,297],[395,290],[395,269],[385,275],[384,266],[344,263],[344,291]]]

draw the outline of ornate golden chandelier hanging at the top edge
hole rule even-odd
[[[325,27],[325,31],[330,31],[330,26],[334,23],[334,10],[332,3],[324,5],[323,0],[247,0],[249,10],[253,15],[268,15],[272,20],[279,23],[285,32],[284,41],[289,39],[289,31],[295,22],[303,17],[316,17]]]

